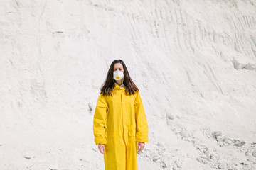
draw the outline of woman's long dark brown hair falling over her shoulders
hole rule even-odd
[[[102,84],[100,88],[100,94],[103,94],[105,96],[110,95],[112,96],[112,90],[114,87],[114,79],[113,79],[113,72],[114,72],[114,64],[121,63],[124,67],[124,80],[123,84],[125,87],[125,94],[135,94],[135,91],[139,91],[138,87],[134,84],[131,77],[129,76],[129,72],[127,70],[127,67],[125,66],[123,60],[114,60],[112,64],[110,65],[110,69],[107,72],[107,77],[105,79],[105,83]],[[128,96],[128,95],[127,95]]]

